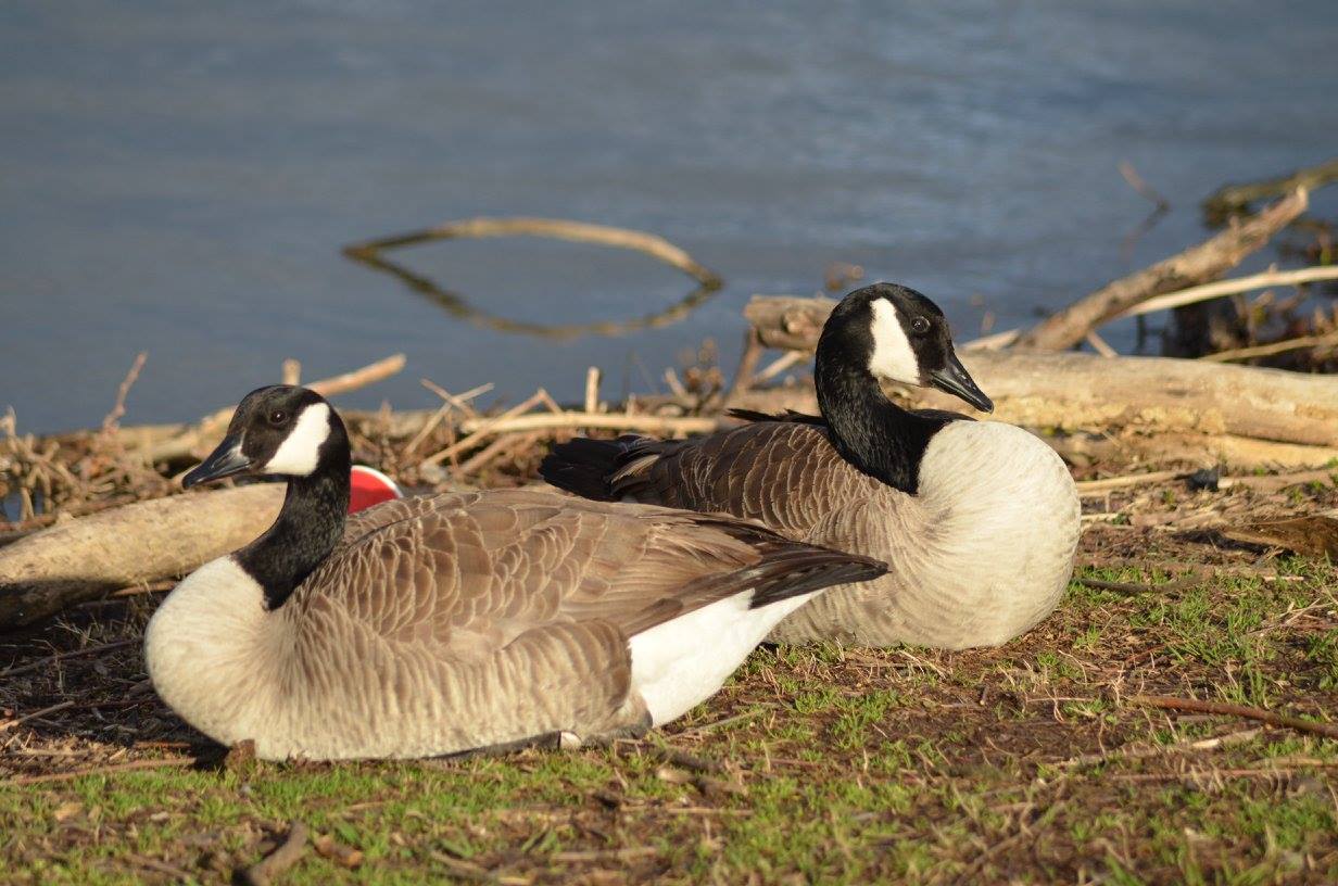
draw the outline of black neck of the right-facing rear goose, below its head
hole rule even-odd
[[[914,495],[925,450],[947,419],[903,410],[866,367],[824,351],[819,345],[814,383],[836,451],[864,474]]]

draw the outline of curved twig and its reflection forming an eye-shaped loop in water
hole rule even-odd
[[[547,237],[551,240],[566,240],[578,244],[595,244],[599,246],[613,246],[615,249],[632,249],[645,253],[652,258],[677,268],[697,281],[697,288],[688,293],[677,304],[664,311],[658,311],[633,320],[606,320],[585,324],[541,324],[520,320],[507,320],[496,317],[471,305],[459,293],[443,289],[432,280],[413,273],[408,268],[396,264],[385,257],[385,252],[401,246],[412,246],[434,240],[460,240],[466,237]],[[380,237],[344,248],[344,254],[353,261],[363,262],[369,268],[384,270],[399,277],[409,289],[434,301],[452,316],[467,320],[475,325],[502,332],[518,332],[547,339],[571,339],[579,335],[619,335],[633,329],[662,327],[685,317],[688,312],[704,302],[717,289],[720,277],[708,268],[700,265],[686,252],[674,246],[664,237],[649,234],[641,230],[626,228],[610,228],[607,225],[591,225],[589,222],[569,221],[563,218],[467,218],[451,221],[434,228]]]

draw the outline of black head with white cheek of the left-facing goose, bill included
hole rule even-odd
[[[339,415],[308,388],[257,388],[237,406],[222,443],[182,478],[190,489],[235,474],[309,478],[330,462],[348,460],[348,435]]]

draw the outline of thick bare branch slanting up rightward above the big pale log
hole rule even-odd
[[[1053,313],[1022,333],[1016,347],[1037,351],[1072,348],[1089,331],[1153,296],[1179,289],[1185,281],[1216,277],[1236,266],[1301,215],[1307,205],[1306,191],[1297,190],[1240,225],[1228,228],[1177,256],[1116,280]]]

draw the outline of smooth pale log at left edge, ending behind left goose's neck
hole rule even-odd
[[[274,522],[282,483],[173,495],[58,523],[0,547],[0,629],[185,574]]]

